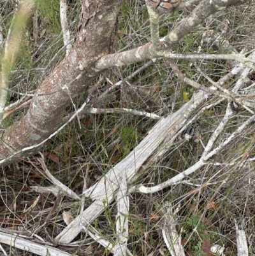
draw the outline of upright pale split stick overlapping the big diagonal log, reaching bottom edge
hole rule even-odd
[[[124,173],[120,181],[120,189],[117,193],[117,220],[116,231],[117,241],[115,245],[114,256],[126,255],[128,243],[128,215],[129,215],[129,197],[127,196],[128,186],[126,175]]]

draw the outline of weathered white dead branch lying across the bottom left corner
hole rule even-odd
[[[13,246],[20,250],[24,250],[29,253],[34,253],[36,255],[41,255],[41,256],[45,256],[45,255],[71,256],[71,254],[67,252],[61,251],[49,245],[41,245],[39,243],[34,243],[33,241],[30,241],[30,239],[31,237],[27,237],[27,239],[24,239],[20,237],[20,235],[18,234],[6,234],[3,232],[0,232],[0,241],[5,245],[10,245],[11,247]],[[72,254],[72,256],[75,256],[75,255]]]

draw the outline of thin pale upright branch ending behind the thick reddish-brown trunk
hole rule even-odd
[[[70,44],[70,31],[68,28],[68,19],[66,15],[66,10],[67,10],[66,0],[60,0],[60,21],[61,21],[64,45],[66,46],[66,56],[68,56],[69,51],[71,49],[71,44]]]

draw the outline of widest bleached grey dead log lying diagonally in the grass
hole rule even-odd
[[[98,218],[104,211],[104,204],[112,202],[115,191],[119,189],[119,182],[124,171],[126,171],[127,181],[131,181],[142,164],[154,153],[161,142],[166,137],[171,138],[191,116],[193,110],[207,99],[207,96],[203,91],[199,91],[194,94],[192,100],[177,112],[159,120],[147,137],[124,160],[115,165],[98,183],[84,192],[87,197],[96,200],[96,202],[85,209],[82,220],[80,216],[75,218],[55,239],[60,243],[70,243],[82,231],[83,225],[87,226],[88,223]],[[80,222],[82,222],[82,225]]]

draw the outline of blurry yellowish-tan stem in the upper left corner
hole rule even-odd
[[[22,0],[18,6],[11,22],[11,27],[8,32],[6,45],[4,48],[3,59],[1,59],[1,76],[0,76],[0,124],[3,121],[4,107],[6,105],[8,91],[8,80],[11,68],[15,63],[15,59],[20,49],[22,33],[25,24],[32,14],[34,8],[33,0]]]

